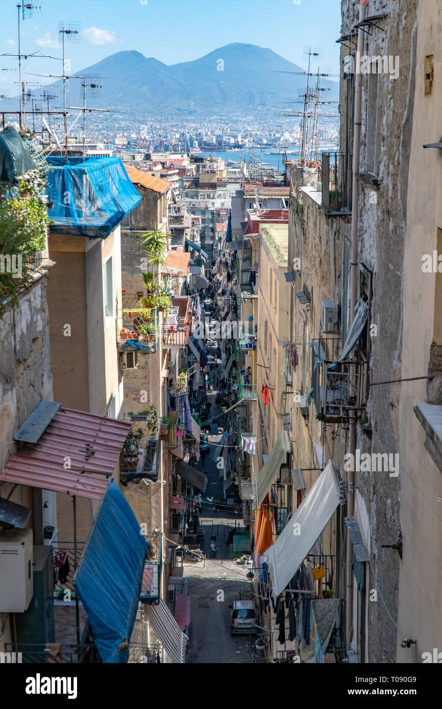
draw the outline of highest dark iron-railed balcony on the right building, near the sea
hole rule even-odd
[[[321,206],[330,216],[351,213],[351,162],[344,152],[322,153]]]

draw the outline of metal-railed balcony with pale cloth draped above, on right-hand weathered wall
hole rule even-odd
[[[350,411],[365,408],[367,362],[362,357],[336,362],[326,357],[334,338],[311,340],[311,387],[316,418],[327,423],[348,421]]]

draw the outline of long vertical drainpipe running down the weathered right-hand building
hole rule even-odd
[[[359,22],[365,20],[368,0],[362,0],[359,7]],[[358,28],[357,56],[361,57],[364,51],[365,34]],[[358,71],[358,61],[355,62],[355,123],[353,126],[353,186],[351,205],[351,269],[350,269],[350,325],[355,319],[355,303],[358,292],[358,216],[359,216],[359,181],[356,173],[359,172],[360,153],[360,123],[361,123],[361,86],[362,77]],[[349,451],[355,460],[356,453],[356,411],[350,411],[348,432]],[[355,471],[348,472],[347,516],[353,517],[355,508]],[[350,644],[353,625],[353,544],[350,532],[347,530],[347,558],[346,558],[346,642]]]

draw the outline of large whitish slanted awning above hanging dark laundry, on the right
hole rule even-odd
[[[275,544],[267,549],[268,571],[274,598],[284,591],[304,562],[338,504],[339,476],[333,461],[330,460],[277,537]]]

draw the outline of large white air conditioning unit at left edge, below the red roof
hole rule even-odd
[[[0,535],[0,613],[24,613],[34,592],[33,533]]]

